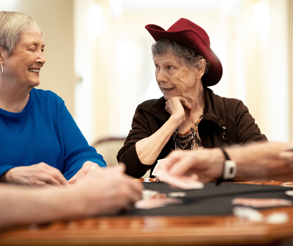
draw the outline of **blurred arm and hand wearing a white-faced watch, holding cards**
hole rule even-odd
[[[236,180],[293,181],[293,152],[283,151],[292,143],[265,142],[225,148],[237,165]],[[225,157],[218,148],[173,151],[164,168],[173,175],[193,175],[202,182],[223,175]]]

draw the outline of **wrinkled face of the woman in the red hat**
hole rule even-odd
[[[196,81],[197,69],[191,69],[184,63],[179,64],[176,56],[166,53],[163,56],[153,57],[156,66],[156,81],[165,100],[174,96],[192,97]]]

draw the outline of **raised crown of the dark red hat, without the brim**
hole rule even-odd
[[[187,20],[185,18],[180,18],[178,21],[176,21],[168,30],[167,32],[180,32],[180,31],[190,31],[194,32],[196,35],[198,35],[202,41],[205,42],[205,44],[208,47],[211,47],[210,41],[209,41],[209,35],[204,31],[203,28],[196,25],[190,20]]]

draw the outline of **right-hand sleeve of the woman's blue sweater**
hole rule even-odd
[[[69,180],[82,167],[85,161],[92,161],[106,167],[102,155],[97,154],[94,147],[89,146],[74,119],[67,110],[64,101],[60,105],[60,124],[64,145],[64,173]]]

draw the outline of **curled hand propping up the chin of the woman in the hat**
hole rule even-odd
[[[185,120],[185,111],[183,106],[191,109],[192,106],[183,96],[174,96],[166,101],[165,109],[170,115],[177,115]]]

